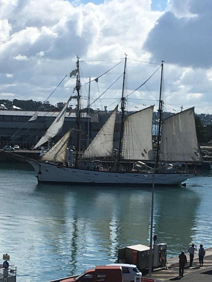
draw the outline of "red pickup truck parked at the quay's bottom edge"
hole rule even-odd
[[[75,278],[63,279],[60,282],[123,282],[120,266],[97,266]]]

